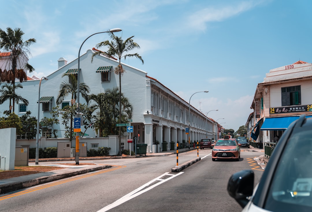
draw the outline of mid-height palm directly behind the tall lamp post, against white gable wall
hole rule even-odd
[[[64,76],[68,76],[69,81],[68,82],[64,81],[61,83],[60,91],[56,98],[56,104],[60,105],[62,101],[64,100],[64,98],[71,95],[71,106],[73,106],[77,98],[77,79],[76,79],[76,76],[73,74],[68,74],[68,75],[63,74],[62,77]],[[88,93],[90,93],[90,87],[86,83],[80,82],[79,90],[80,90],[79,92],[81,93],[81,96],[85,99],[86,102],[88,102]],[[71,131],[73,129],[73,115],[74,114],[71,114],[71,127],[70,127]],[[70,135],[72,135],[71,132],[70,132]],[[71,138],[72,136],[69,137],[70,141],[71,141]]]

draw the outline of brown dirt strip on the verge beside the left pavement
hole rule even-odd
[[[92,163],[65,163],[61,165],[69,165],[69,166],[80,166],[80,165],[96,165]],[[65,169],[64,167],[58,166],[15,166],[14,170],[2,171],[0,170],[0,180],[8,179],[13,177],[20,177],[28,174],[37,174],[40,172],[48,172],[56,169]]]

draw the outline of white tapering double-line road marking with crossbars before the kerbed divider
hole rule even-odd
[[[98,210],[98,212],[104,212],[104,211],[108,211],[112,208],[115,208],[116,206],[120,205],[120,204],[123,204],[125,203],[126,201],[130,200],[130,199],[133,199],[134,197],[137,197],[139,196],[140,194],[143,194],[144,192],[146,191],[149,191],[150,189],[153,189],[154,187],[170,180],[170,179],[173,179],[174,177],[180,175],[180,174],[183,174],[184,172],[179,172],[178,174],[168,174],[169,172],[166,172],[162,175],[160,175],[159,177],[155,178],[155,179],[152,179],[151,181],[149,181],[148,183],[140,186],[139,188],[133,190],[132,192],[130,192],[129,194],[126,194],[124,195],[123,197],[121,197],[120,199],[116,200],[115,202],[113,202],[112,204],[109,204],[107,205],[106,207]],[[165,175],[170,175],[170,177],[168,177],[167,179],[160,179],[162,178],[163,176]],[[159,181],[158,183],[155,183],[151,186],[149,186],[150,184],[154,183],[155,181]],[[149,187],[148,187],[149,186]],[[147,188],[146,188],[147,187]],[[145,189],[144,189],[145,188]],[[144,189],[144,190],[142,190]]]

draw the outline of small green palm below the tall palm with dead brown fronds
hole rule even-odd
[[[17,83],[16,85],[10,85],[8,83],[5,83],[4,85],[1,86],[0,89],[0,104],[4,103],[5,101],[9,100],[9,109],[10,109],[10,113],[11,113],[11,109],[12,109],[12,100],[18,104],[19,102],[23,102],[26,105],[28,105],[28,100],[23,98],[22,96],[18,95],[17,93],[15,93],[15,90],[17,88],[23,88],[21,83]],[[13,102],[14,104],[14,102]],[[14,111],[13,111],[14,112]]]

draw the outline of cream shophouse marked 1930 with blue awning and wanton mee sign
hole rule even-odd
[[[301,114],[312,117],[311,85],[312,63],[297,61],[266,73],[251,104],[253,117],[246,123],[254,123],[250,134],[256,135],[255,142],[275,143],[275,136],[280,138]]]

